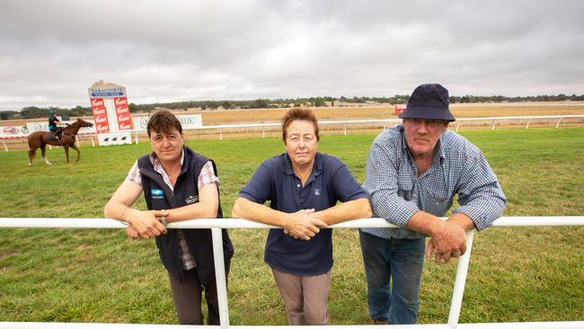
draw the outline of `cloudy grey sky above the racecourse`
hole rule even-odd
[[[128,102],[584,93],[582,1],[0,0],[0,111]]]

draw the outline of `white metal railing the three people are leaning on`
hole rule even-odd
[[[444,219],[444,218],[443,218]],[[533,226],[584,226],[584,216],[571,217],[505,217],[493,222],[493,227],[533,227]],[[0,227],[52,227],[52,228],[125,228],[118,220],[109,218],[0,218]],[[210,228],[213,237],[213,253],[215,255],[215,269],[217,279],[217,298],[219,301],[220,328],[227,329],[229,325],[229,311],[227,309],[227,287],[225,264],[223,262],[222,228],[270,228],[271,226],[252,222],[240,218],[203,218],[169,223],[167,228]],[[350,220],[330,226],[332,228],[358,227],[394,227],[382,218],[362,218]],[[450,302],[448,323],[441,325],[393,325],[392,328],[584,328],[584,321],[568,322],[526,322],[526,323],[497,323],[497,324],[458,324],[460,310],[465,291],[466,274],[473,247],[474,230],[466,233],[466,253],[458,260],[456,268],[455,286]],[[0,328],[173,328],[177,325],[123,325],[123,324],[64,324],[64,323],[0,323]],[[347,327],[348,325],[327,325],[327,329]],[[257,326],[231,325],[236,329],[257,329]],[[272,327],[272,326],[270,326]],[[277,328],[291,326],[278,325]],[[317,326],[318,327],[318,326]],[[351,328],[373,329],[373,325],[350,325]],[[219,326],[217,326],[219,328]],[[378,326],[376,327],[378,328]]]

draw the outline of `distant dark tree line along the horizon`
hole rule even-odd
[[[390,97],[309,97],[309,98],[278,98],[278,99],[258,99],[252,101],[189,101],[189,102],[156,102],[151,104],[135,104],[130,102],[128,104],[129,111],[132,113],[155,111],[156,109],[164,108],[170,110],[187,111],[191,108],[200,108],[201,110],[217,110],[222,108],[225,110],[231,109],[267,109],[267,108],[288,108],[291,106],[315,106],[322,107],[330,104],[335,106],[342,103],[363,103],[363,102],[378,102],[400,104],[408,102],[409,94],[395,94]],[[584,101],[584,95],[566,95],[563,93],[557,95],[537,95],[537,96],[450,96],[451,103],[466,103],[466,102],[552,102],[552,101]],[[328,104],[327,104],[328,103]],[[44,118],[49,116],[49,111],[55,111],[61,117],[83,117],[91,116],[91,107],[84,107],[77,105],[74,108],[66,109],[59,107],[40,108],[37,106],[27,106],[21,111],[0,111],[0,120],[9,119],[33,119]]]

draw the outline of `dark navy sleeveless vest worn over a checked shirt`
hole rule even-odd
[[[197,186],[197,177],[207,164],[209,159],[200,156],[189,147],[183,148],[184,162],[181,167],[181,173],[174,185],[174,191],[166,185],[160,173],[156,173],[149,155],[141,156],[138,159],[138,167],[142,176],[144,188],[144,197],[148,209],[174,209],[186,206],[191,203],[199,202],[199,188]],[[213,169],[217,174],[217,167],[213,160]],[[217,218],[223,218],[221,202],[219,200],[219,209]],[[184,279],[181,255],[179,252],[179,240],[177,229],[168,229],[166,235],[156,236],[156,245],[160,259],[166,270],[181,282]],[[205,284],[215,277],[215,263],[213,262],[213,241],[211,239],[210,229],[183,229],[183,235],[189,245],[197,264],[197,274],[201,283]],[[227,230],[223,229],[223,249],[224,260],[230,259],[234,254],[234,247],[231,244]]]

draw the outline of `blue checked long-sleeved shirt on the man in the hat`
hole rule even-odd
[[[458,194],[464,213],[482,230],[491,226],[505,208],[505,194],[497,176],[466,138],[448,130],[440,136],[432,165],[420,177],[408,150],[401,124],[385,129],[373,142],[367,158],[367,191],[374,217],[400,228],[362,228],[374,236],[414,239],[422,234],[406,227],[418,210],[442,217]]]

